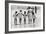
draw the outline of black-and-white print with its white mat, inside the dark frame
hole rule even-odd
[[[9,3],[9,30],[43,28],[42,10],[42,5]]]

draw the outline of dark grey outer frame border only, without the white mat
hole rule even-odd
[[[8,31],[9,29],[9,11],[8,3],[25,3],[25,4],[42,4],[43,5],[43,29],[41,30],[24,30],[24,31]],[[27,1],[5,1],[5,33],[24,33],[24,32],[40,32],[45,31],[45,3],[43,2],[27,2]]]

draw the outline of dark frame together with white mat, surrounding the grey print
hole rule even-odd
[[[16,30],[16,29],[11,29],[11,30],[9,30],[9,7],[11,6],[11,5],[24,5],[24,6],[26,6],[26,5],[28,6],[37,6],[37,5],[42,5],[42,7],[43,7],[43,10],[42,10],[42,28],[40,29],[32,29],[32,30],[25,30],[25,29],[21,29],[21,30],[19,30],[19,29],[17,29],[17,31],[13,31],[13,30]],[[20,7],[20,6],[19,6]],[[22,32],[39,32],[39,31],[45,31],[45,3],[43,3],[43,2],[26,2],[26,1],[5,1],[5,32],[6,33],[22,33]]]

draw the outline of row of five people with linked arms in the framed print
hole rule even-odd
[[[26,11],[24,11],[24,14],[22,13],[22,10],[20,10],[20,13],[17,14],[17,11],[15,11],[15,14],[13,15],[14,18],[14,24],[15,25],[18,25],[17,24],[17,17],[19,18],[19,23],[21,24],[21,21],[22,21],[22,16],[24,18],[24,24],[26,24],[26,17],[28,17],[28,24],[30,24],[33,20],[33,23],[35,23],[35,19],[36,19],[36,16],[34,14],[34,11],[32,10],[28,10],[27,11],[27,14],[26,14]]]

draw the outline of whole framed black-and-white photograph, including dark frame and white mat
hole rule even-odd
[[[8,32],[44,31],[43,7],[44,3],[6,2]]]

